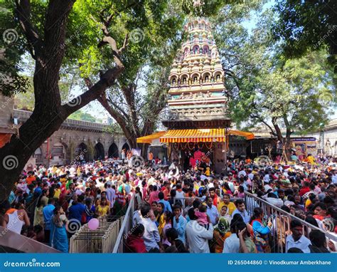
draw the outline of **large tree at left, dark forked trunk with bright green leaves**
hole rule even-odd
[[[132,67],[138,47],[127,48],[132,30],[156,24],[164,16],[165,1],[4,1],[11,20],[6,28],[16,29],[14,64],[23,53],[35,61],[33,88],[35,105],[31,117],[21,125],[18,134],[0,149],[0,173],[3,189],[0,199],[9,195],[21,170],[33,152],[53,134],[63,121],[90,101],[100,98],[116,83],[125,70]],[[149,21],[149,14],[152,21]],[[14,20],[13,20],[14,19]],[[112,21],[114,23],[112,23]],[[20,29],[20,31],[18,30]],[[9,46],[6,47],[6,56]],[[124,64],[125,63],[125,64]],[[103,65],[104,64],[104,65]],[[62,103],[60,75],[63,70],[80,66],[92,84],[85,93]],[[9,69],[9,65],[5,66]],[[14,66],[15,67],[15,66]],[[18,74],[18,68],[15,71]],[[126,73],[132,73],[132,70]],[[10,86],[13,87],[13,86]],[[25,89],[25,88],[23,88]],[[11,95],[16,87],[5,95]]]

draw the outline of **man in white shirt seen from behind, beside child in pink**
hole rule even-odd
[[[213,239],[213,226],[201,226],[196,221],[193,208],[188,210],[190,221],[186,224],[186,239],[191,253],[210,253],[208,240]]]

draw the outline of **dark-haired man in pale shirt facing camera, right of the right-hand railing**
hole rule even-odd
[[[310,253],[309,246],[311,241],[303,235],[303,226],[300,221],[291,220],[290,222],[291,235],[286,239],[286,252],[291,248],[301,249],[304,253]]]

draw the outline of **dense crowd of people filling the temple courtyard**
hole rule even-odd
[[[126,252],[269,253],[277,236],[282,251],[336,251],[337,168],[333,158],[316,163],[257,165],[228,162],[228,172],[181,171],[178,165],[141,167],[113,161],[40,165],[23,172],[9,199],[0,204],[0,226],[68,252],[74,231],[92,218],[119,215],[134,197]],[[279,207],[289,229],[247,193]],[[304,233],[304,221],[316,226]],[[309,238],[308,238],[309,237]]]

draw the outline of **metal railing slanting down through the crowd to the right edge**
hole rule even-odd
[[[303,225],[303,234],[309,239],[309,234],[311,230],[319,230],[323,232],[326,239],[330,239],[333,243],[337,243],[337,237],[333,234],[329,234],[323,229],[309,224],[308,222],[299,219],[293,214],[289,214],[287,211],[279,209],[277,206],[270,204],[264,199],[256,197],[254,194],[245,192],[245,206],[248,214],[252,214],[255,207],[259,206],[264,211],[264,214],[269,218],[272,217],[272,231],[269,235],[269,245],[273,253],[284,253],[286,246],[287,234],[290,234],[290,221],[297,220]]]

